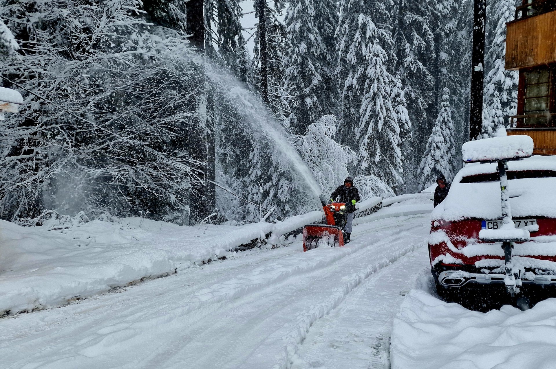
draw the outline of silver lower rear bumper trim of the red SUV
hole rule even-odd
[[[470,285],[504,284],[504,274],[472,273],[463,270],[444,270],[438,273],[433,270],[435,279],[444,287],[471,287]],[[522,285],[556,286],[556,275],[535,275],[527,273],[522,276]]]

